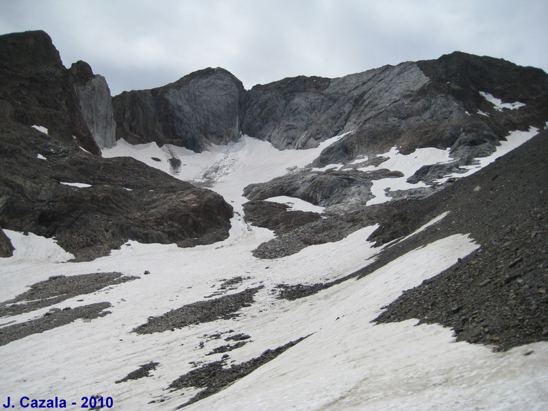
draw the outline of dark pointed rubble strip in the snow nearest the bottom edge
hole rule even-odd
[[[298,340],[291,341],[286,345],[277,347],[276,349],[267,349],[264,353],[261,354],[258,358],[253,358],[252,360],[242,362],[241,364],[235,364],[229,368],[224,368],[225,361],[216,361],[210,364],[201,366],[199,369],[189,371],[185,375],[181,375],[179,378],[173,381],[169,388],[173,390],[179,390],[181,388],[206,388],[205,390],[200,391],[197,395],[192,397],[189,401],[182,404],[178,408],[183,408],[195,403],[201,399],[209,397],[215,393],[218,393],[223,388],[229,386],[237,379],[245,377],[252,371],[255,371],[263,364],[273,360],[281,353],[293,347],[297,343],[300,343],[306,337],[299,338]]]

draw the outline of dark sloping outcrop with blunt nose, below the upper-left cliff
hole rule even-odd
[[[103,159],[32,127],[0,127],[0,226],[54,237],[77,260],[127,240],[208,244],[228,236],[220,195],[132,158]]]

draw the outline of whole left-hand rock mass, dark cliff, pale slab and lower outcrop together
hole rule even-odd
[[[0,55],[0,227],[55,237],[77,260],[127,240],[188,247],[227,238],[232,206],[220,195],[97,155],[112,144],[112,108],[87,64],[65,69],[44,32],[0,36]],[[5,235],[0,243],[10,256]]]

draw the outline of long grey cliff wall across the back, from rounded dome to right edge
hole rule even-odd
[[[246,91],[223,69],[206,69],[152,90],[114,97],[116,138],[201,151],[241,134],[278,149],[307,149],[339,134],[317,166],[397,146],[451,148],[462,160],[495,151],[510,130],[543,127],[548,76],[505,60],[451,53],[438,60],[336,79],[292,77]],[[484,94],[482,94],[482,92]],[[499,110],[484,96],[525,104]]]

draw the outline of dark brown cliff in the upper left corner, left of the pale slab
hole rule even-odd
[[[0,114],[25,125],[41,125],[53,138],[99,154],[59,52],[45,32],[1,36]]]

